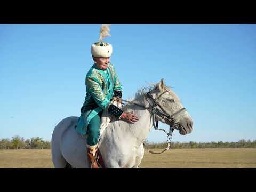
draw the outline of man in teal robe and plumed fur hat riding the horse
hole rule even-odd
[[[76,125],[76,132],[87,137],[87,157],[92,168],[99,168],[97,162],[98,141],[100,137],[100,119],[103,110],[107,110],[116,119],[129,123],[139,120],[132,113],[124,112],[111,103],[114,98],[122,102],[122,85],[119,82],[114,65],[110,63],[113,52],[111,44],[102,39],[109,34],[109,25],[102,25],[99,42],[91,45],[94,64],[85,78],[86,96],[81,108],[81,116]]]

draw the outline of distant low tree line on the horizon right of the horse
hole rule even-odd
[[[166,142],[154,143],[146,140],[146,145],[151,149],[165,148]],[[241,139],[238,142],[171,142],[171,149],[203,149],[203,148],[256,148],[256,140]]]

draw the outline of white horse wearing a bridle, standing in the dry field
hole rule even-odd
[[[153,100],[147,98],[147,93]],[[160,96],[160,97],[159,97]],[[154,88],[147,92],[142,88],[137,91],[132,102],[141,106],[150,107],[157,99],[159,106],[156,109],[160,113],[169,115],[175,114],[175,122],[178,126],[175,129],[185,135],[193,130],[193,120],[186,110],[177,114],[183,108],[179,97],[167,86],[163,79],[154,85]],[[144,155],[143,141],[149,134],[153,121],[161,121],[170,124],[161,115],[155,115],[144,107],[132,103],[123,107],[124,111],[133,111],[139,116],[139,121],[129,124],[122,120],[111,121],[102,133],[99,141],[99,150],[106,167],[138,167]],[[87,159],[86,139],[87,135],[78,134],[74,127],[78,117],[67,117],[63,119],[54,129],[52,134],[52,162],[54,167],[90,167]]]

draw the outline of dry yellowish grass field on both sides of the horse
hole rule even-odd
[[[140,166],[256,167],[256,148],[170,149],[160,155],[146,151]],[[51,150],[0,150],[0,167],[51,168]]]

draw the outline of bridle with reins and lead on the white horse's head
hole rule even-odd
[[[168,150],[168,149],[170,148],[171,139],[172,139],[172,133],[173,133],[173,131],[174,131],[174,128],[177,127],[177,126],[178,126],[178,127],[181,126],[180,123],[177,122],[174,117],[177,116],[178,114],[180,114],[180,113],[186,111],[186,108],[183,107],[183,108],[179,109],[178,111],[176,111],[175,113],[173,113],[173,114],[171,114],[171,115],[168,115],[168,114],[166,113],[166,111],[164,110],[164,108],[161,106],[161,104],[160,104],[159,102],[157,102],[157,99],[159,99],[159,98],[160,98],[164,93],[166,93],[166,92],[168,92],[168,91],[164,91],[164,92],[161,93],[156,99],[154,99],[154,98],[152,97],[152,95],[150,94],[151,91],[149,91],[148,93],[146,93],[146,94],[145,94],[146,100],[148,101],[148,99],[150,99],[150,100],[151,100],[151,103],[152,103],[151,106],[150,106],[150,102],[148,101],[149,107],[145,107],[145,106],[139,105],[138,103],[133,103],[133,102],[126,101],[126,100],[122,99],[122,101],[125,101],[125,102],[127,102],[127,103],[132,103],[132,104],[134,104],[134,105],[140,106],[140,107],[145,108],[145,109],[147,109],[148,111],[150,111],[150,112],[151,112],[151,115],[152,115],[151,117],[153,117],[153,126],[154,126],[155,130],[162,130],[162,131],[164,131],[164,132],[167,134],[167,138],[168,138],[168,140],[167,140],[167,147],[166,147],[163,151],[161,151],[160,153],[154,153],[153,151],[150,151],[150,150],[149,150],[149,152],[152,153],[152,154],[161,154],[161,153],[163,153],[164,151],[166,151],[166,150]],[[171,101],[174,102],[173,99],[172,99]],[[158,106],[162,111],[161,111],[161,110],[158,110],[158,109],[157,109],[157,106]],[[156,125],[155,125],[155,117],[156,117],[156,115],[158,115],[159,117],[161,117],[162,119],[164,119],[165,122],[167,122],[167,124],[170,125],[169,133],[168,133],[166,130],[164,130],[164,129],[158,128],[158,121],[156,121]],[[150,117],[150,119],[151,119],[151,117]],[[186,129],[184,129],[184,130],[186,131]],[[144,142],[143,142],[143,145],[146,147],[146,145],[145,145]]]

